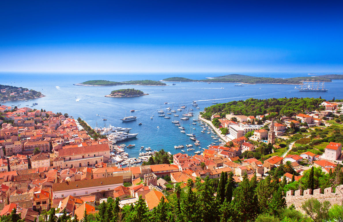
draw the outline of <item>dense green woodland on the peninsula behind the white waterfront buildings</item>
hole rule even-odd
[[[202,117],[210,120],[214,113],[225,117],[225,114],[256,116],[270,113],[276,116],[292,116],[297,113],[314,110],[325,110],[320,104],[325,101],[321,98],[280,98],[280,99],[247,99],[218,103],[204,109]]]

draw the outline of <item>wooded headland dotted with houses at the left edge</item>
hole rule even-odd
[[[16,86],[0,85],[1,101],[36,99],[44,97],[41,92]]]

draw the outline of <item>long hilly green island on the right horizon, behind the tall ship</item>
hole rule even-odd
[[[255,77],[240,74],[230,74],[225,76],[216,76],[211,79],[189,79],[184,77],[170,77],[162,81],[170,82],[241,82],[245,84],[271,83],[271,84],[301,84],[301,81],[306,80],[331,82],[332,79],[343,79],[343,75],[321,75],[321,76],[304,76],[294,78],[271,78],[271,77]]]

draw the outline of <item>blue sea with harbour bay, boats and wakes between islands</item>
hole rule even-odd
[[[86,80],[104,79],[111,81],[125,80],[140,80],[151,79],[161,80],[167,77],[187,77],[193,79],[203,79],[205,77],[214,77],[225,74],[209,74],[209,73],[185,73],[185,74],[22,74],[22,73],[0,73],[0,84],[13,85],[17,87],[26,87],[42,92],[46,97],[32,100],[30,102],[17,101],[8,102],[7,105],[21,104],[20,107],[26,104],[37,102],[37,109],[45,109],[53,112],[68,113],[75,119],[81,117],[88,124],[95,127],[112,124],[120,127],[131,127],[130,133],[139,133],[134,139],[118,142],[135,144],[135,147],[126,148],[129,157],[138,157],[141,146],[151,147],[153,150],[165,149],[172,154],[180,152],[180,149],[175,149],[175,145],[193,144],[184,133],[180,133],[175,124],[171,123],[173,115],[169,115],[172,119],[158,117],[157,110],[162,107],[166,111],[167,107],[177,109],[180,105],[187,104],[187,108],[192,108],[192,101],[197,101],[199,109],[194,107],[194,119],[200,111],[205,107],[211,106],[213,101],[218,103],[245,100],[247,98],[283,98],[283,97],[315,97],[321,96],[324,99],[343,99],[343,80],[334,80],[327,83],[326,88],[329,92],[299,92],[294,89],[295,85],[279,85],[279,84],[256,84],[245,85],[244,87],[235,87],[234,83],[192,83],[192,82],[176,82],[172,86],[171,82],[166,82],[169,86],[115,86],[115,87],[85,87],[74,86],[73,84]],[[306,74],[285,73],[285,74],[248,74],[259,77],[297,77],[307,76]],[[11,84],[12,81],[12,84]],[[224,89],[221,89],[221,88]],[[112,90],[123,88],[135,88],[142,90],[144,93],[149,93],[147,96],[134,98],[107,98]],[[168,104],[164,104],[168,102]],[[135,110],[132,114],[137,116],[136,121],[121,122],[126,114],[130,115],[129,111]],[[99,114],[99,115],[97,115]],[[179,118],[182,112],[178,112]],[[153,119],[150,117],[153,116]],[[167,115],[167,114],[166,114]],[[107,121],[102,121],[106,118]],[[188,121],[182,121],[186,130],[189,124],[193,121],[190,118]],[[138,123],[142,125],[138,125]],[[158,127],[157,127],[158,126]],[[201,133],[200,126],[193,125],[196,128],[193,131],[198,140],[200,147],[206,147],[214,142],[211,138],[213,134]],[[218,144],[218,143],[217,143]],[[197,151],[199,148],[193,146]],[[187,147],[183,148],[185,151]],[[186,153],[193,154],[194,151]]]

